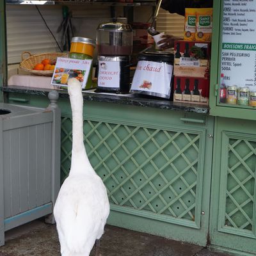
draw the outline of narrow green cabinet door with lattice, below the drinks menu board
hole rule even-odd
[[[216,118],[211,244],[256,252],[256,122]]]

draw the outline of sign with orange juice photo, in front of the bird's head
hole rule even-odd
[[[68,79],[75,77],[82,88],[85,88],[92,60],[78,60],[71,58],[57,58],[51,84],[67,88]]]

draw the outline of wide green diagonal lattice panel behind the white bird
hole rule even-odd
[[[63,118],[62,180],[70,168],[71,129],[71,119]],[[195,221],[199,134],[90,120],[84,131],[86,152],[111,205]]]

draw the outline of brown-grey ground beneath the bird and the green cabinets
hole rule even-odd
[[[0,256],[56,256],[60,244],[56,226],[36,220],[5,234]],[[200,246],[180,243],[107,225],[100,240],[102,256],[227,256]],[[94,255],[94,249],[91,256]]]

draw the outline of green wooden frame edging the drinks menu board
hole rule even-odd
[[[241,118],[256,120],[255,108],[250,106],[240,107],[238,105],[219,103],[219,81],[220,81],[220,55],[221,55],[221,33],[223,0],[214,1],[213,31],[212,31],[212,54],[211,54],[211,85],[210,85],[210,115],[229,118]]]

